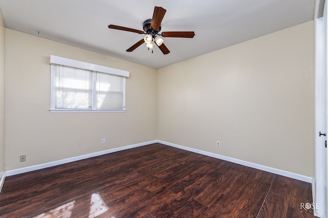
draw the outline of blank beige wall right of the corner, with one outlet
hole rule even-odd
[[[313,21],[161,68],[157,84],[158,139],[314,176]]]

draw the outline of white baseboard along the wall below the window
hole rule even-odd
[[[96,157],[96,156],[100,156],[100,155],[104,155],[104,154],[127,150],[127,149],[133,149],[133,148],[137,148],[140,146],[146,146],[147,144],[152,144],[152,143],[156,143],[156,142],[157,142],[157,140],[147,141],[147,142],[132,144],[130,146],[109,149],[109,150],[105,150],[105,151],[95,152],[95,153],[67,158],[67,159],[63,159],[63,160],[57,160],[57,161],[53,161],[53,162],[38,164],[38,165],[34,165],[34,166],[28,166],[28,167],[19,168],[19,169],[12,169],[11,171],[6,171],[6,176],[13,176],[13,175],[17,175],[17,174],[27,173],[30,171],[36,171],[37,169],[43,169],[43,168],[47,168],[47,167],[51,167],[51,166],[57,166],[57,165],[64,164],[64,163],[70,163],[70,162],[77,161],[77,160],[83,160],[83,159],[87,159],[90,157]]]

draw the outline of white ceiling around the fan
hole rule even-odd
[[[313,20],[315,0],[0,0],[9,29],[90,51],[160,68]],[[142,30],[155,6],[167,10],[162,31],[194,31],[194,38],[163,38],[171,51],[153,54],[145,35],[109,29]]]

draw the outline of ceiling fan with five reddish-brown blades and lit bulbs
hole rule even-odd
[[[169,49],[165,44],[163,43],[163,39],[160,38],[159,36],[162,37],[178,37],[178,38],[193,38],[195,36],[195,33],[193,31],[175,31],[175,32],[160,32],[161,26],[160,23],[162,22],[162,19],[166,13],[166,9],[163,9],[162,7],[155,7],[154,8],[154,13],[153,13],[153,18],[152,19],[147,19],[144,21],[143,24],[143,29],[142,30],[136,30],[136,29],[131,29],[127,27],[121,27],[121,26],[116,26],[116,25],[109,25],[108,28],[110,29],[116,29],[116,30],[123,30],[123,31],[128,31],[128,32],[133,32],[133,33],[138,33],[138,34],[146,34],[145,38],[141,39],[127,50],[127,52],[132,52],[135,50],[137,47],[139,47],[141,44],[146,42],[146,46],[149,49],[153,49],[154,42],[155,44],[159,47],[160,51],[164,54],[167,55],[170,53]]]

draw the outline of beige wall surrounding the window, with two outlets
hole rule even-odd
[[[156,69],[10,29],[6,37],[6,171],[157,139]],[[50,113],[50,55],[130,71],[127,112]]]

